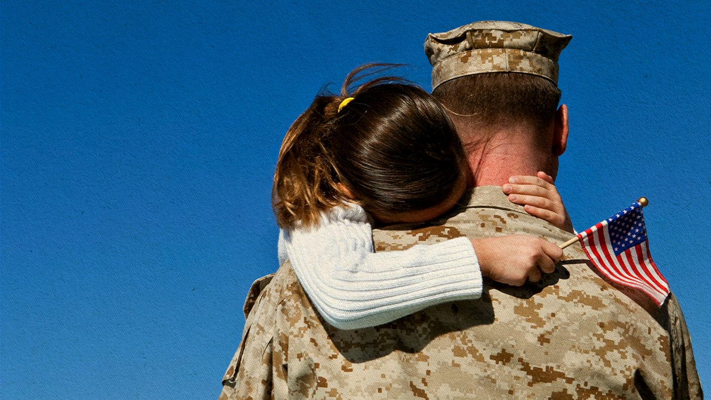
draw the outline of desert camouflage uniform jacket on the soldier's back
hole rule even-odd
[[[397,251],[510,233],[554,243],[572,237],[511,204],[500,187],[485,186],[432,224],[390,226],[374,240],[378,251]],[[577,245],[540,283],[485,280],[480,300],[378,327],[327,325],[288,261],[255,283],[245,311],[220,400],[702,399],[673,295],[650,315],[602,280]]]

